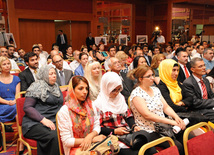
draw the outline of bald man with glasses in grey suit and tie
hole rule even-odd
[[[56,82],[59,86],[68,85],[73,76],[71,70],[63,69],[63,59],[60,55],[54,55],[52,58],[53,65],[56,66]]]

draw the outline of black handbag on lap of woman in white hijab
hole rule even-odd
[[[129,134],[119,136],[118,138],[133,150],[139,150],[141,146],[150,141],[150,134],[144,130],[131,131]]]

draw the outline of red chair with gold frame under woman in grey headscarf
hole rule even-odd
[[[24,94],[25,92],[21,92],[20,94]],[[20,96],[20,94],[18,96]],[[37,141],[33,139],[28,139],[25,138],[22,134],[22,119],[25,115],[25,112],[23,111],[23,106],[24,106],[25,98],[16,98],[16,110],[17,110],[17,115],[16,115],[16,122],[17,122],[17,128],[18,128],[18,133],[19,133],[19,138],[17,140],[17,151],[16,154],[19,154],[19,146],[20,143],[22,142],[28,149],[28,154],[32,155],[31,149],[37,149]]]

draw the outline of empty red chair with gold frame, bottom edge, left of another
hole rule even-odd
[[[169,142],[170,147],[167,149],[161,150],[158,153],[155,153],[155,155],[179,155],[178,148],[177,146],[175,146],[174,141],[170,137],[162,137],[143,145],[140,148],[138,155],[144,155],[147,149],[154,147],[158,144],[161,144],[165,141]]]

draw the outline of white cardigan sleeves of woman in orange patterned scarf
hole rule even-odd
[[[93,105],[92,105],[93,106]],[[93,109],[96,109],[93,106]],[[94,127],[93,131],[100,133],[100,121],[97,111],[94,110]],[[73,136],[72,121],[70,118],[69,110],[66,105],[63,105],[57,114],[58,128],[60,130],[60,137],[64,148],[65,155],[70,154],[70,149],[74,147],[75,138]]]

